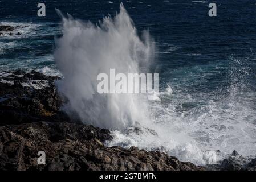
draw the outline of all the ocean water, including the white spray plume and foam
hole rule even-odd
[[[233,150],[256,156],[255,1],[214,1],[215,18],[210,1],[122,1],[123,11],[121,1],[44,2],[46,17],[38,17],[38,2],[0,0],[0,23],[22,33],[0,37],[0,72],[63,76],[66,109],[112,129],[108,146],[196,164],[207,163],[209,150],[220,150],[219,159]],[[63,24],[55,8],[74,19]],[[110,67],[159,73],[159,99],[95,96],[94,76]]]

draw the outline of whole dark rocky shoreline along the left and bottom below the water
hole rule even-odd
[[[0,170],[256,170],[233,152],[216,165],[180,162],[160,151],[106,147],[111,131],[74,121],[60,108],[66,99],[42,73],[0,75]],[[46,165],[37,163],[38,151]],[[237,160],[240,159],[240,160]]]

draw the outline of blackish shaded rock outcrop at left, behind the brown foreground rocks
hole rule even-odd
[[[0,76],[0,125],[69,121],[59,110],[63,99],[54,86],[59,77],[21,70]]]

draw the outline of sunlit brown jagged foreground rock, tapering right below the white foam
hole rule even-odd
[[[109,130],[77,123],[7,125],[0,134],[1,170],[204,170],[158,151],[105,147]],[[38,165],[38,151],[46,165]]]

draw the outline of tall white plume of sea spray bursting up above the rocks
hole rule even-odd
[[[143,40],[124,6],[114,18],[97,24],[63,20],[63,36],[55,40],[54,58],[63,74],[58,88],[84,123],[109,129],[125,129],[147,118],[147,98],[137,94],[99,94],[97,75],[146,72],[155,55],[155,45],[147,31]]]

